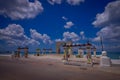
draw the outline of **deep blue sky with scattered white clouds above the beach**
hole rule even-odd
[[[119,0],[0,0],[0,51],[68,40],[101,50],[100,36],[105,50],[120,51],[119,14]]]

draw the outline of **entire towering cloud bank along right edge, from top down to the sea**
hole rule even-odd
[[[103,42],[107,43],[105,47],[109,50],[115,49],[115,46],[120,44],[120,0],[108,3],[104,12],[98,13],[92,24],[95,27],[102,27],[93,41],[99,41],[102,36]],[[119,49],[116,47],[117,50]]]

